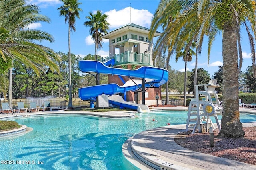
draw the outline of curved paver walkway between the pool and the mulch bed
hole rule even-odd
[[[244,124],[246,126],[256,126],[256,122]],[[132,150],[141,160],[151,162],[150,166],[159,170],[256,170],[255,165],[194,152],[179,146],[174,137],[185,131],[184,127],[185,125],[171,125],[143,131],[133,137]]]

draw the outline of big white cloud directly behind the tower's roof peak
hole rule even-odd
[[[148,10],[137,10],[130,7],[118,11],[116,9],[110,10],[105,12],[105,14],[108,15],[107,21],[110,23],[110,29],[124,26],[130,22],[143,27],[150,27],[153,16]]]

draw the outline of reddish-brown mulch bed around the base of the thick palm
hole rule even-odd
[[[192,131],[176,135],[174,141],[190,150],[228,158],[256,165],[256,127],[244,127],[244,138],[217,138],[218,130],[214,131],[214,147],[209,146],[210,135],[206,133],[191,134]]]

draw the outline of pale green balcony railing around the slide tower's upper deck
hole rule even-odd
[[[110,57],[102,58],[102,61],[115,59],[115,65],[121,64],[150,64],[149,54],[126,51],[124,53],[115,54]]]

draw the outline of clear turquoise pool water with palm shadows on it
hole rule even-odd
[[[137,170],[122,155],[122,144],[147,129],[166,126],[166,123],[185,124],[187,113],[155,111],[137,113],[135,118],[128,119],[85,115],[14,119],[34,130],[0,138],[0,160],[9,161],[0,164],[0,169]],[[256,115],[241,113],[240,120],[256,121]]]

